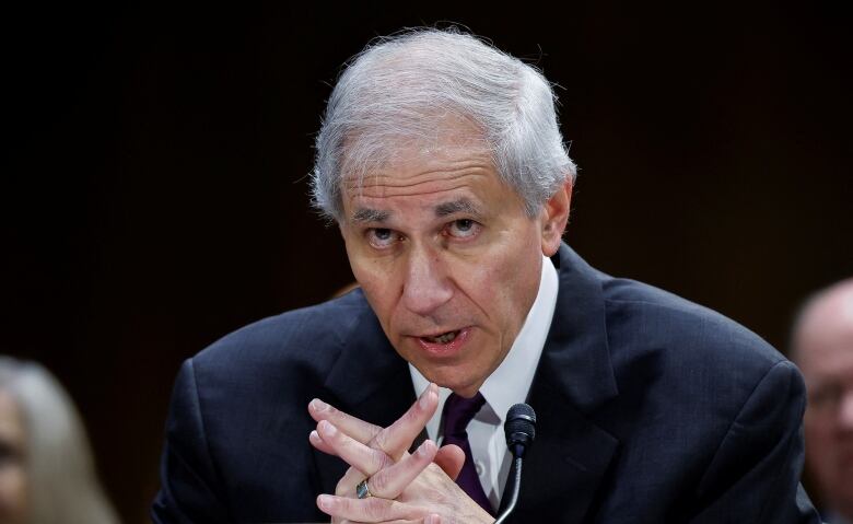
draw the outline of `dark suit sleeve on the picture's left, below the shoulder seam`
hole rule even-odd
[[[210,456],[192,360],[172,393],[161,462],[161,489],[151,508],[155,524],[230,522],[222,484]]]

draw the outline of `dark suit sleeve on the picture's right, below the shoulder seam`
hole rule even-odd
[[[781,361],[759,381],[720,443],[698,489],[692,523],[819,523],[799,484],[805,385]]]

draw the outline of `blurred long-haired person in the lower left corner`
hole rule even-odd
[[[42,365],[0,357],[0,524],[116,524],[71,397]]]

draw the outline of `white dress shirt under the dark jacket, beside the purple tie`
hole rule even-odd
[[[480,477],[486,496],[495,509],[500,504],[512,463],[512,455],[507,453],[503,432],[506,411],[514,404],[523,403],[527,398],[557,306],[559,288],[557,269],[550,258],[542,258],[536,300],[510,352],[480,387],[486,404],[468,423],[468,442],[471,445],[477,475]],[[420,395],[430,383],[413,365],[409,364],[409,371],[414,394]],[[426,435],[439,444],[441,444],[439,436],[442,430],[440,428],[442,410],[451,393],[451,389],[445,387],[439,388],[439,408],[426,423]]]

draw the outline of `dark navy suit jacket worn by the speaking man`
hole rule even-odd
[[[568,246],[528,403],[537,440],[513,522],[818,522],[799,488],[804,385],[723,316],[608,277]],[[346,469],[315,451],[319,397],[387,426],[414,400],[360,291],[247,326],[184,363],[157,523],[328,521]]]

